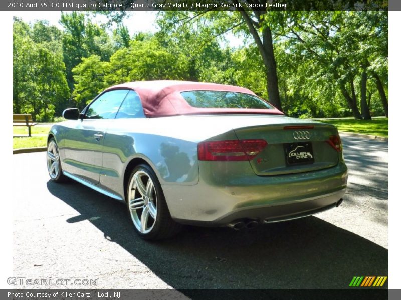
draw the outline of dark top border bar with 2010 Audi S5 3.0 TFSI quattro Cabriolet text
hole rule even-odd
[[[399,0],[2,0],[5,11],[401,10]]]

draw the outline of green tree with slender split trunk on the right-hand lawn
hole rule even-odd
[[[363,114],[369,119],[366,82],[368,75],[374,73],[369,70],[369,60],[377,61],[380,57],[379,61],[385,61],[385,45],[378,47],[386,39],[385,33],[380,33],[385,32],[385,14],[377,11],[291,11],[280,15],[278,25],[281,30],[276,30],[277,43],[284,45],[288,58],[307,63],[314,74],[326,78],[317,82],[335,83],[356,119],[362,119],[355,86],[360,84]],[[312,74],[312,78],[316,76]],[[312,84],[306,84],[306,90],[317,87],[311,80],[308,83]],[[327,89],[323,85],[320,88]]]

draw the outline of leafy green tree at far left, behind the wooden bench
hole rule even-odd
[[[46,23],[39,24],[46,29],[42,25],[46,26]],[[69,90],[62,54],[55,51],[57,40],[38,34],[43,31],[37,30],[39,26],[34,24],[33,29],[14,19],[13,103],[14,112],[32,113],[35,120],[43,121],[53,118],[60,99],[68,98]],[[53,28],[47,29],[54,31]]]

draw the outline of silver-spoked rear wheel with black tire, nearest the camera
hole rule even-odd
[[[136,174],[136,178],[134,175]],[[148,184],[149,179],[153,183],[153,190],[151,190],[151,183]],[[143,183],[141,187],[136,186],[137,180]],[[140,185],[140,183],[139,183]],[[148,186],[150,186],[148,188]],[[143,187],[146,187],[146,195],[141,193]],[[131,192],[132,190],[132,192]],[[148,190],[150,192],[148,192]],[[149,195],[149,197],[147,197]],[[140,197],[142,196],[142,197]],[[147,200],[145,199],[147,197]],[[135,201],[132,201],[135,199]],[[143,201],[141,201],[143,200]],[[143,202],[143,203],[142,203]],[[146,164],[140,164],[136,166],[129,176],[128,184],[126,187],[126,203],[128,209],[128,215],[130,216],[134,225],[135,231],[138,235],[147,240],[160,240],[172,237],[181,229],[181,225],[176,223],[170,215],[170,212],[165,201],[163,191],[161,189],[159,180],[157,179],[154,171]],[[134,204],[135,203],[135,204]],[[136,209],[132,210],[130,204]],[[148,215],[145,217],[145,225],[142,225],[142,216],[144,211],[147,209]],[[154,214],[154,210],[156,213]],[[152,217],[152,214],[155,218]],[[139,224],[138,224],[139,222]],[[149,226],[149,228],[147,227]],[[142,232],[141,232],[142,229]]]

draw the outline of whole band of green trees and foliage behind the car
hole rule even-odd
[[[192,80],[247,87],[291,116],[388,116],[387,12],[164,11],[156,33],[134,35],[113,19],[63,13],[60,30],[15,18],[14,112],[51,120],[113,84]]]

